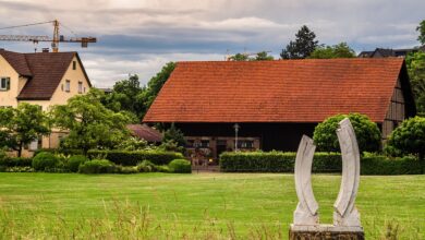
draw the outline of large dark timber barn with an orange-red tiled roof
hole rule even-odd
[[[296,151],[302,134],[312,136],[317,123],[349,112],[378,123],[382,140],[414,116],[404,60],[179,62],[143,121],[174,123],[189,149],[217,158],[235,145]]]

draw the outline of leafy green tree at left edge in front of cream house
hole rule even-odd
[[[0,108],[0,148],[17,151],[50,133],[48,116],[38,105],[20,104],[17,108]]]

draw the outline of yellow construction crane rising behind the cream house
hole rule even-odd
[[[31,24],[17,25],[17,26],[0,27],[0,29],[10,29],[10,28],[16,28],[16,27],[24,27],[24,26],[34,26],[34,25],[40,25],[40,24],[47,24],[47,23],[53,24],[53,37],[52,38],[50,38],[48,36],[0,35],[0,40],[33,41],[34,44],[38,44],[39,41],[51,41],[51,49],[53,52],[59,51],[59,43],[81,43],[81,47],[86,48],[88,46],[88,43],[96,43],[97,41],[97,39],[95,37],[70,37],[70,38],[66,38],[63,35],[59,35],[59,27],[60,26],[65,27],[65,26],[63,24],[60,24],[58,20],[41,22],[41,23],[31,23]],[[68,27],[65,27],[65,28],[68,28]]]

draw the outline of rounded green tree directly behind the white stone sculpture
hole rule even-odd
[[[318,151],[340,152],[336,131],[339,127],[338,123],[344,118],[349,118],[353,125],[361,152],[379,151],[381,135],[378,125],[372,122],[367,116],[360,113],[336,115],[319,123],[313,134]]]

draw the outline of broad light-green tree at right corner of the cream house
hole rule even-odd
[[[53,106],[53,124],[70,131],[62,146],[83,149],[114,148],[130,135],[129,119],[121,112],[107,109],[101,103],[102,93],[92,88],[86,95],[77,95],[66,105]]]

